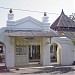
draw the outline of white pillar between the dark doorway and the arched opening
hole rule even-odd
[[[43,65],[50,65],[50,42],[49,38],[43,38]]]

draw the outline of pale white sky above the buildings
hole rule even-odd
[[[0,7],[22,9],[30,11],[48,12],[49,23],[52,24],[55,19],[64,13],[69,16],[75,13],[75,0],[0,0]],[[9,9],[0,8],[0,28],[6,26]],[[14,20],[31,16],[42,21],[43,13],[13,10]],[[55,14],[53,14],[55,13]]]

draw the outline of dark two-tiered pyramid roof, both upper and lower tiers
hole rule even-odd
[[[62,10],[60,16],[51,25],[51,29],[57,30],[57,33],[75,40],[75,22],[66,16]]]

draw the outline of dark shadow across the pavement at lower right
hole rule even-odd
[[[68,73],[68,72],[73,72],[75,71],[75,69],[73,69],[72,67],[47,67],[47,68],[39,68],[38,71],[36,72],[29,72],[29,73],[21,73],[21,74],[39,74],[39,73]]]

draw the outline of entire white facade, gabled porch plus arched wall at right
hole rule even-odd
[[[3,43],[7,68],[26,66],[30,62],[51,65],[53,58],[61,65],[73,64],[71,40],[59,37],[57,32],[50,28],[48,19],[44,13],[42,22],[30,16],[14,21],[14,14],[9,12],[7,26],[0,29],[0,41]]]

